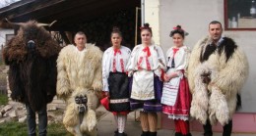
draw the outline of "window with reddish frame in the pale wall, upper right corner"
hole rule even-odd
[[[224,0],[226,30],[256,30],[256,0]]]

